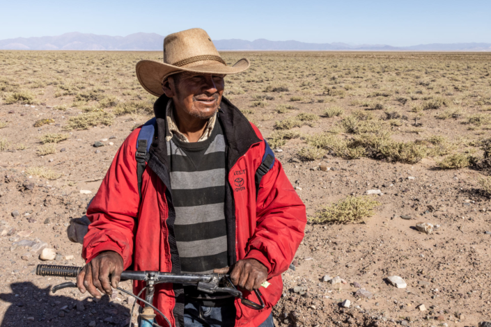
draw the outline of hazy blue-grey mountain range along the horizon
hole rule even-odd
[[[86,33],[65,33],[40,38],[0,40],[1,50],[162,50],[164,36],[157,33],[134,33],[109,36]],[[346,43],[306,43],[299,41],[214,40],[219,50],[345,50],[345,51],[491,51],[491,43],[453,43],[412,45],[348,45]]]

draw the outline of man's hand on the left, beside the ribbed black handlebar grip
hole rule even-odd
[[[118,253],[101,252],[80,271],[77,276],[77,287],[80,292],[88,291],[96,298],[101,298],[100,292],[111,295],[113,293],[111,286],[118,287],[123,269],[123,258]]]

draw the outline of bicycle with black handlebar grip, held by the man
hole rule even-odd
[[[36,275],[38,276],[51,276],[51,277],[77,277],[79,272],[83,267],[81,266],[57,266],[54,264],[38,264],[36,267]],[[169,319],[160,310],[155,308],[153,303],[153,294],[155,292],[155,285],[169,282],[178,283],[185,285],[196,285],[196,289],[201,292],[208,294],[213,294],[215,292],[224,292],[240,298],[242,304],[246,305],[248,308],[254,310],[261,310],[264,308],[262,294],[260,294],[258,289],[254,289],[254,293],[258,298],[259,303],[255,303],[247,298],[243,297],[242,292],[233,285],[230,275],[219,274],[219,273],[209,273],[209,274],[193,274],[193,273],[162,273],[160,271],[123,271],[121,273],[121,281],[124,280],[140,280],[146,282],[146,286],[141,289],[138,295],[134,295],[132,292],[128,292],[125,289],[116,287],[120,292],[124,292],[130,296],[133,296],[137,300],[144,303],[143,311],[139,314],[139,319],[141,319],[140,327],[160,327],[155,323],[155,317],[157,312],[166,321],[169,327],[171,323]],[[222,286],[220,286],[222,285]],[[52,292],[55,293],[59,289],[64,289],[67,287],[77,287],[74,282],[63,282],[59,285],[54,285]],[[145,290],[145,299],[141,298],[141,293]],[[134,301],[130,317],[133,317],[134,307],[137,301]],[[155,312],[154,312],[155,310]],[[132,326],[132,321],[130,319],[130,324],[128,327]]]

